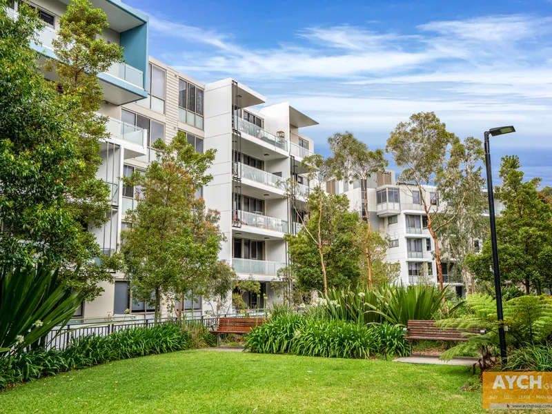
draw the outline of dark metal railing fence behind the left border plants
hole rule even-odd
[[[184,317],[165,317],[161,318],[158,324],[184,324],[187,326],[193,324],[201,324],[208,328],[209,331],[216,331],[219,326],[221,317],[264,317],[266,312],[263,309],[248,311],[248,313],[230,313],[224,315],[196,315]],[[86,337],[89,335],[107,336],[110,333],[121,331],[124,329],[132,329],[139,327],[152,328],[155,326],[153,319],[135,319],[132,321],[122,322],[101,322],[96,324],[70,324],[67,326],[59,326],[46,335],[46,350],[68,347],[72,339]]]

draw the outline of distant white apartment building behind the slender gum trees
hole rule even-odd
[[[347,195],[351,210],[364,215],[364,192],[358,181],[353,184],[330,181],[326,184],[326,191]],[[370,223],[375,230],[382,231],[390,238],[386,259],[400,264],[397,282],[404,285],[417,284],[422,279],[437,283],[435,244],[427,230],[422,197],[435,210],[444,206],[445,201],[440,199],[435,187],[426,186],[420,192],[416,186],[398,183],[393,170],[378,172],[366,183]],[[502,209],[502,204],[495,201],[495,210],[500,212]],[[441,266],[444,283],[453,286],[458,295],[465,295],[462,277],[451,271],[453,262],[442,257]]]

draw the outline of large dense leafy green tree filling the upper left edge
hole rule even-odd
[[[101,291],[97,282],[111,275],[106,262],[101,266],[93,262],[101,252],[86,230],[89,224],[102,223],[109,208],[108,188],[95,178],[99,165],[95,132],[103,126],[86,114],[102,99],[95,68],[109,66],[114,57],[102,52],[105,41],[90,41],[104,26],[85,28],[77,23],[90,12],[90,5],[83,4],[71,3],[61,18],[56,46],[60,60],[55,62],[60,79],[47,82],[39,55],[30,48],[31,42],[39,43],[37,32],[44,26],[37,12],[21,2],[19,17],[12,20],[6,14],[6,1],[1,2],[0,219],[6,231],[0,235],[0,251],[5,266],[44,260],[59,266],[61,277],[91,299]],[[70,50],[81,50],[88,63],[85,58],[72,59],[76,55]],[[71,71],[85,64],[87,88],[81,77],[68,81]]]

